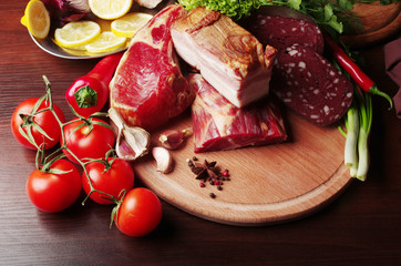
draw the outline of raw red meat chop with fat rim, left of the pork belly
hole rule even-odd
[[[160,11],[131,41],[110,83],[111,106],[126,123],[151,131],[181,114],[195,99],[182,75],[169,28],[186,11]]]

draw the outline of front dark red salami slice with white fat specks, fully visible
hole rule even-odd
[[[275,61],[271,91],[313,124],[340,120],[352,102],[352,83],[323,57],[294,44]]]

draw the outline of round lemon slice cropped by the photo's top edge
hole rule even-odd
[[[101,19],[119,19],[126,14],[133,0],[89,0],[92,13]]]

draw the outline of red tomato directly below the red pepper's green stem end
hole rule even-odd
[[[94,122],[93,129],[84,121],[74,120],[64,126],[64,136],[66,147],[75,154],[81,161],[84,158],[102,158],[106,152],[110,151],[115,143],[114,131],[110,127],[95,124],[96,122],[105,123],[100,119],[92,119]],[[84,124],[79,130],[75,130],[81,124]],[[61,145],[63,140],[60,141]],[[64,154],[71,162],[78,163],[78,161],[66,151],[63,150]]]

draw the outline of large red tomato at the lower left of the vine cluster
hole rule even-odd
[[[66,160],[55,161],[50,168],[65,173],[43,173],[34,170],[27,180],[29,200],[39,209],[58,213],[70,207],[81,194],[81,175],[74,164]]]

